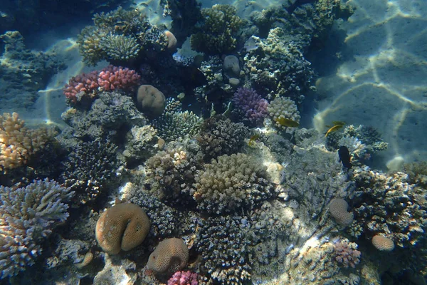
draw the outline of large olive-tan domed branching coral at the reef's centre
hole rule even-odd
[[[273,196],[266,167],[243,153],[221,155],[196,174],[191,194],[203,211],[221,214],[251,209]]]

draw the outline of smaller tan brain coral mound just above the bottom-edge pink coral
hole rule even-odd
[[[182,239],[164,239],[148,258],[147,267],[156,274],[173,273],[189,261],[189,249]]]

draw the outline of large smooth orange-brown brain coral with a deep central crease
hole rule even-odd
[[[150,222],[136,204],[117,204],[103,212],[96,223],[95,236],[108,254],[118,254],[141,244],[149,232]]]

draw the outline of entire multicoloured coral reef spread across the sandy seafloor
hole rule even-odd
[[[385,174],[367,165],[387,147],[378,130],[300,126],[316,79],[305,56],[352,7],[295,1],[242,19],[230,5],[161,3],[170,29],[121,7],[83,28],[83,62],[110,65],[67,78],[65,128],[0,116],[2,281],[426,276],[426,165]],[[50,53],[26,50],[18,32],[1,38],[1,71],[11,78],[5,58],[47,79],[62,68]],[[194,53],[181,49],[186,38]],[[20,65],[23,54],[32,59]]]

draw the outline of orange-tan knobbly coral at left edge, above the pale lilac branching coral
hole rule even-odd
[[[26,128],[17,113],[4,113],[0,116],[0,171],[25,165],[54,135],[56,131],[50,128]]]

